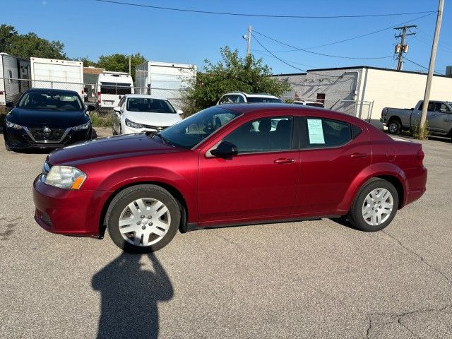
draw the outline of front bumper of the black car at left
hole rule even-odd
[[[88,129],[81,131],[73,131],[69,128],[61,133],[57,138],[47,138],[46,136],[38,137],[30,129],[11,129],[4,126],[4,139],[6,145],[10,148],[24,149],[24,148],[60,148],[64,145],[77,143],[79,141],[90,140],[92,135],[91,126]]]

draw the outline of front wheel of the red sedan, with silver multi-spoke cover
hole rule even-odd
[[[106,220],[114,244],[132,253],[146,253],[169,244],[179,228],[181,212],[166,189],[138,185],[113,199]]]

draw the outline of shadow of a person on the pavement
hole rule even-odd
[[[174,290],[155,255],[143,256],[150,265],[124,252],[93,276],[102,298],[97,338],[157,338],[157,303],[172,299]]]

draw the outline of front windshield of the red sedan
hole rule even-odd
[[[180,148],[193,148],[240,113],[210,107],[168,127],[153,138]]]

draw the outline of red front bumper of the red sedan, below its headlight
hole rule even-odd
[[[97,237],[107,196],[107,191],[59,189],[41,182],[40,174],[33,183],[35,220],[48,232]]]

